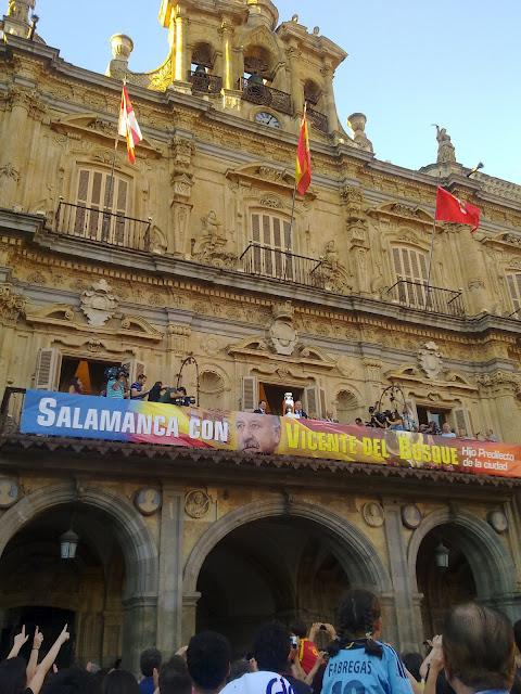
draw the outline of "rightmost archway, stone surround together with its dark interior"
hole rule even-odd
[[[448,550],[446,569],[435,567],[434,552],[440,543]],[[429,514],[410,539],[408,564],[412,590],[422,595],[425,637],[440,629],[454,604],[474,597],[517,618],[512,603],[517,592],[513,560],[485,520],[448,509]]]

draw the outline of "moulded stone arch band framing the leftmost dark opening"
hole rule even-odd
[[[131,503],[109,491],[90,487],[77,490],[72,484],[60,484],[27,494],[2,516],[0,556],[11,538],[37,515],[66,503],[93,506],[114,519],[115,535],[120,542],[127,569],[124,599],[156,597],[158,556],[154,539]]]

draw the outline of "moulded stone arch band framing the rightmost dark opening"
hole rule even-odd
[[[460,530],[460,544],[470,564],[480,600],[500,600],[516,592],[513,560],[490,525],[462,511],[456,514],[449,509],[430,513],[412,534],[407,551],[410,584],[418,592],[416,562],[420,544],[425,536],[441,525],[452,525]]]

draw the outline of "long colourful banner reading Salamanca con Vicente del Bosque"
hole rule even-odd
[[[521,477],[521,446],[42,390],[21,432]]]

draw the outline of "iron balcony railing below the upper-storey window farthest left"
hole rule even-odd
[[[149,252],[151,221],[61,201],[56,210],[55,231],[85,241]]]

